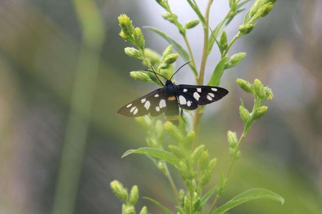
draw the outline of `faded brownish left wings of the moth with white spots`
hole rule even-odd
[[[165,97],[166,91],[164,88],[160,88],[124,105],[118,109],[117,113],[127,117],[139,117],[147,115],[148,113],[151,113],[151,116],[158,116],[165,111]]]

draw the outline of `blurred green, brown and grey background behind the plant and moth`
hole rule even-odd
[[[206,1],[197,2],[204,11]],[[184,0],[170,5],[183,23],[197,18]],[[228,1],[214,1],[212,28],[228,8]],[[247,56],[225,71],[221,86],[230,93],[207,107],[202,119],[200,142],[219,160],[206,189],[218,183],[220,169],[227,170],[227,130],[242,132],[239,98],[248,108],[253,102],[235,80],[258,78],[275,97],[247,135],[219,204],[257,187],[286,201],[283,206],[275,201],[247,202],[230,210],[232,214],[322,213],[321,10],[319,0],[280,0],[230,50],[230,55],[247,52]],[[120,213],[121,202],[109,188],[114,179],[128,188],[137,184],[140,196],[175,211],[166,177],[147,157],[120,159],[126,150],[146,143],[133,119],[116,114],[125,103],[157,88],[129,76],[129,71],[143,65],[124,54],[130,45],[118,36],[117,16],[126,13],[138,27],[155,26],[185,47],[162,12],[152,0],[0,1],[0,213],[52,213],[57,204],[68,209],[53,213]],[[228,26],[228,38],[236,34],[243,16],[237,15]],[[159,53],[167,47],[158,35],[143,33],[146,47]],[[201,25],[187,36],[199,67]],[[219,57],[214,48],[206,79]],[[183,63],[179,57],[176,65]],[[176,81],[193,84],[188,67]],[[170,171],[177,187],[183,188],[179,173],[171,166]],[[137,210],[143,205],[151,213],[162,213],[144,199]]]

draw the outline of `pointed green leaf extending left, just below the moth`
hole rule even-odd
[[[123,156],[121,158],[124,158],[125,156],[128,156],[129,154],[150,155],[152,157],[156,157],[156,158],[160,158],[162,160],[165,160],[176,167],[179,167],[179,163],[180,163],[179,158],[175,157],[174,154],[172,154],[168,151],[154,149],[154,148],[150,148],[150,147],[143,147],[143,148],[139,148],[137,150],[128,150],[123,154]]]

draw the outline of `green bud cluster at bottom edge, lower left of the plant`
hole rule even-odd
[[[130,196],[128,196],[128,190],[123,187],[118,180],[114,180],[110,183],[111,189],[115,196],[125,203],[122,204],[122,213],[124,214],[135,214],[134,205],[137,203],[139,198],[139,190],[137,185],[134,185],[130,191]],[[147,214],[147,207],[144,206],[140,214]]]

